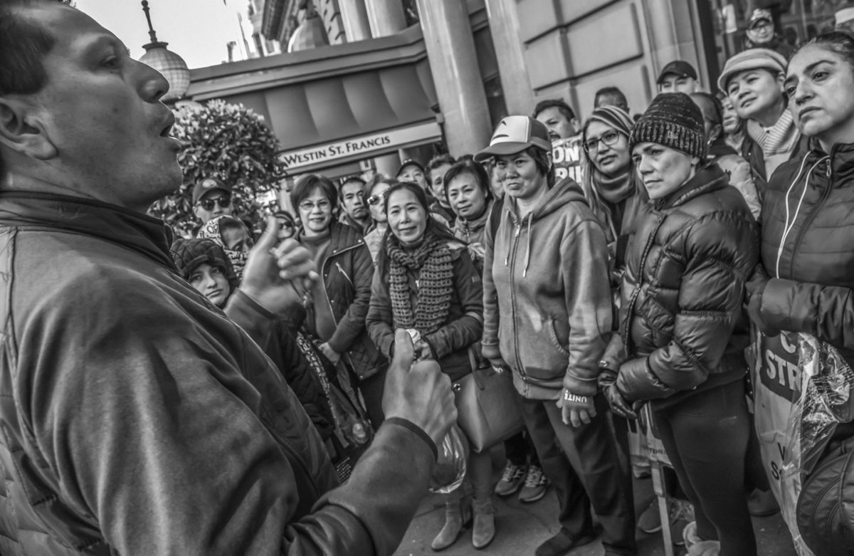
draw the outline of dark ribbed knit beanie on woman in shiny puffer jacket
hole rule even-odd
[[[661,93],[632,128],[629,150],[637,143],[658,143],[703,159],[703,113],[685,93]]]

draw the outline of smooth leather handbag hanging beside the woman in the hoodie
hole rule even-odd
[[[522,404],[512,372],[478,366],[453,383],[457,424],[474,452],[488,450],[524,429]]]

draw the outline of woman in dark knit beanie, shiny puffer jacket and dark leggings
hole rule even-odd
[[[757,264],[756,225],[728,175],[705,161],[703,114],[687,95],[658,95],[629,146],[652,207],[623,275],[624,359],[601,383],[615,413],[649,407],[694,506],[688,553],[751,556],[742,301]]]

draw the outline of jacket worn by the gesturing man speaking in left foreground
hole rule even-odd
[[[253,342],[276,319],[241,291],[227,318],[178,277],[170,236],[107,203],[0,193],[0,553],[392,553],[428,443],[383,424],[333,489]]]

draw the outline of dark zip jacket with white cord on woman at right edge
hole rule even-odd
[[[762,206],[760,313],[829,342],[854,365],[854,144],[813,144],[774,174]],[[805,188],[805,189],[804,189]]]

